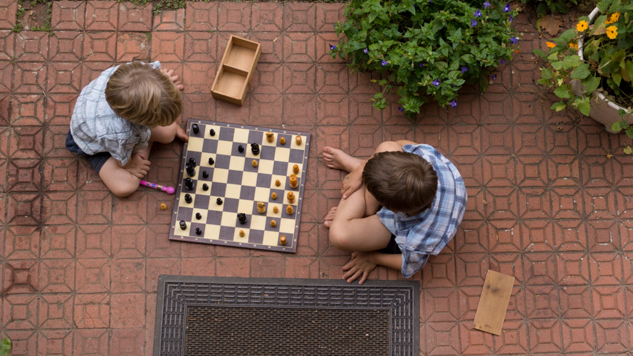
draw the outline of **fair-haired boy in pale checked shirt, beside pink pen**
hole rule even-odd
[[[179,126],[183,86],[173,73],[158,61],[127,63],[106,69],[79,94],[66,148],[85,156],[119,197],[138,189],[153,142],[188,139]]]

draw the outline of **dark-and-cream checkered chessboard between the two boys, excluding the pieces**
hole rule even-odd
[[[192,130],[193,124],[198,125],[198,133]],[[210,134],[211,129],[215,131],[214,136]],[[266,132],[275,134],[273,142],[266,140]],[[187,135],[189,142],[184,144],[182,153],[169,239],[294,253],[310,133],[189,119]],[[297,136],[301,137],[300,145],[295,142]],[[280,137],[286,139],[284,145],[279,142]],[[251,152],[253,142],[260,147],[258,155]],[[239,145],[244,147],[244,152],[238,151]],[[184,179],[189,177],[184,165],[192,157],[196,167],[190,178],[195,187],[188,190],[184,187]],[[214,159],[214,164],[209,164],[209,157]],[[257,167],[253,167],[253,159],[258,162]],[[294,164],[299,166],[296,174],[299,184],[295,189],[288,183]],[[209,177],[203,177],[204,171]],[[279,187],[275,185],[276,179],[281,182]],[[202,184],[207,184],[209,189],[204,191]],[[276,199],[271,197],[273,192],[277,194]],[[292,204],[288,204],[288,192],[295,194]],[[191,203],[184,199],[187,193],[192,196]],[[221,205],[216,204],[217,198],[223,200]],[[258,201],[266,204],[263,214],[257,211]],[[286,212],[288,205],[293,206],[293,214]],[[278,207],[277,213],[273,212],[273,206]],[[202,218],[196,219],[196,213]],[[246,224],[239,223],[238,213],[246,214]],[[273,219],[277,223],[275,227],[271,226]],[[180,228],[180,221],[185,221],[186,229]],[[196,228],[201,229],[202,234],[197,235]],[[244,237],[239,236],[240,230],[244,231]],[[281,235],[286,236],[285,246],[279,242]]]

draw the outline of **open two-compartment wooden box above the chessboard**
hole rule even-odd
[[[243,105],[260,54],[260,43],[231,35],[211,86],[211,95],[216,99]]]

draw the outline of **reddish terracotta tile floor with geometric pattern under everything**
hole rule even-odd
[[[486,94],[465,89],[456,109],[427,105],[412,123],[397,104],[372,110],[370,75],[328,56],[339,4],[195,2],[152,14],[56,1],[51,36],[12,33],[16,0],[0,6],[0,333],[13,355],[150,353],[160,273],[340,278],[348,255],[328,244],[320,221],[338,204],[342,175],[319,152],[332,145],[365,157],[405,138],[452,159],[469,191],[454,240],[413,277],[425,355],[633,350],[633,160],[620,149],[629,140],[543,103],[530,51],[544,40],[528,16],[516,21],[520,53]],[[241,108],[209,93],[231,34],[263,49]],[[79,90],[132,59],[162,61],[184,78],[184,117],[312,132],[297,253],[169,241],[172,197],[113,197],[66,151]],[[157,148],[147,180],[176,182],[181,146]],[[471,329],[488,269],[516,277],[498,337]],[[398,274],[378,268],[372,278]]]

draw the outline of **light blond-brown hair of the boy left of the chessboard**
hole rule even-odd
[[[180,90],[172,80],[140,62],[115,70],[105,87],[105,100],[120,117],[150,128],[171,125],[182,112]]]

